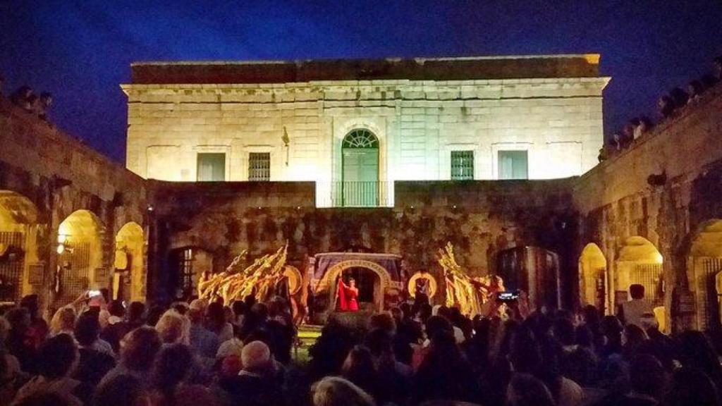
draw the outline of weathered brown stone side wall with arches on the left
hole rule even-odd
[[[53,300],[51,286],[57,264],[58,226],[71,213],[88,210],[103,230],[102,266],[113,269],[115,236],[123,225],[145,224],[144,180],[45,121],[0,98],[0,191],[12,191],[32,202],[37,212],[30,230],[34,264],[43,267],[43,285],[27,284],[24,293]],[[35,216],[32,216],[35,217]],[[35,259],[37,261],[35,261]]]

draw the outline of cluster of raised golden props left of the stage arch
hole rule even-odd
[[[258,301],[265,301],[269,293],[272,293],[285,277],[287,251],[288,244],[279,248],[274,254],[261,256],[239,272],[240,262],[248,254],[244,250],[233,259],[225,272],[199,282],[198,297],[209,301],[223,298],[224,303],[231,303],[243,300],[248,295],[254,295]]]

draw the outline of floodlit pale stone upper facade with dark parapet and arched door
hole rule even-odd
[[[393,206],[395,181],[578,176],[603,142],[598,68],[599,55],[133,64],[126,165],[314,181],[319,207]]]

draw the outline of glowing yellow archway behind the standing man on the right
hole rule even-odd
[[[617,257],[617,282],[614,303],[628,301],[630,285],[643,285],[645,299],[654,306],[660,329],[666,327],[664,309],[664,271],[662,254],[646,238],[627,238]]]

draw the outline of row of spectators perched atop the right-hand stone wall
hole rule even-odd
[[[718,56],[713,61],[713,73],[692,80],[687,84],[686,90],[675,87],[669,94],[663,95],[657,100],[657,114],[660,121],[673,118],[684,111],[687,106],[695,105],[706,90],[721,81],[722,56]],[[648,116],[632,118],[622,129],[614,131],[612,139],[607,140],[604,147],[599,150],[599,161],[606,160],[622,152],[622,150],[626,150],[653,126],[654,123]]]

